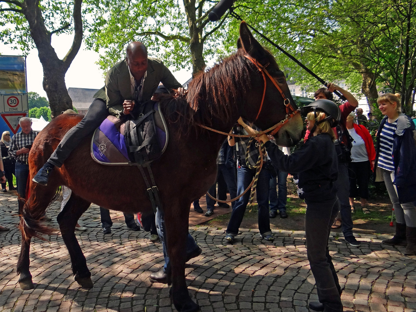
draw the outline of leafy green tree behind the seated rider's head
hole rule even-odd
[[[124,59],[129,42],[141,41],[167,65],[191,65],[196,74],[207,57],[219,52],[218,40],[225,35],[227,15],[208,21],[213,5],[207,0],[99,0],[86,43],[97,52],[105,49],[99,60],[104,70]]]

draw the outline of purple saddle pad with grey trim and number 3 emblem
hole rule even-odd
[[[160,112],[158,102],[154,103],[154,120],[161,154],[168,145],[166,121]],[[114,116],[108,116],[94,131],[91,140],[91,156],[94,161],[108,166],[135,166],[129,157],[127,140],[124,136],[125,124]]]

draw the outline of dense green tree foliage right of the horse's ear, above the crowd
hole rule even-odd
[[[412,0],[237,3],[236,12],[319,76],[332,82],[346,80],[353,92],[361,91],[371,110],[381,90],[401,92],[402,106],[411,110],[416,79]],[[228,33],[229,46],[236,35]],[[289,69],[292,80],[308,91],[319,86],[285,55],[270,48],[282,68]]]

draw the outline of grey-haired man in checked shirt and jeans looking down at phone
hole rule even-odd
[[[9,156],[16,159],[17,193],[22,198],[26,196],[26,183],[29,176],[29,152],[38,132],[32,130],[32,120],[22,117],[19,120],[22,131],[12,137],[9,147]]]

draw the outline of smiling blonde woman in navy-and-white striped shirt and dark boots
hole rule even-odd
[[[416,254],[416,146],[415,125],[401,112],[400,100],[387,93],[377,99],[385,116],[377,133],[376,181],[384,180],[396,215],[396,234],[386,245],[406,246]],[[381,178],[381,179],[380,179]]]

